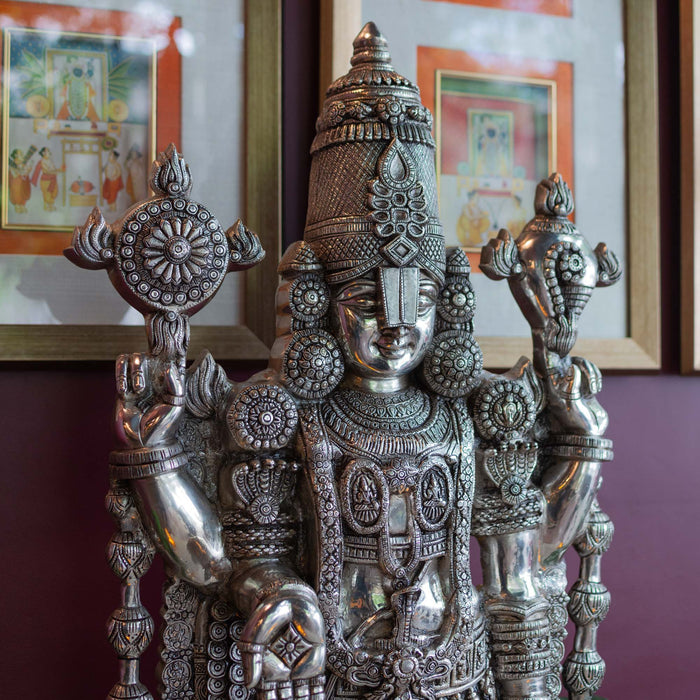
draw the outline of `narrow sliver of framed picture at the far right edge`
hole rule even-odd
[[[700,371],[700,5],[681,0],[681,370]]]

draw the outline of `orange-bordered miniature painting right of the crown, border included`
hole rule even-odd
[[[432,111],[447,245],[478,271],[501,228],[518,236],[537,183],[573,167],[573,66],[418,46],[418,86]]]

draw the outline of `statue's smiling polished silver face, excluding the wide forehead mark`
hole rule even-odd
[[[333,290],[333,323],[346,368],[368,379],[390,379],[414,370],[433,337],[438,285],[421,273],[415,324],[388,326],[381,290],[374,277]]]

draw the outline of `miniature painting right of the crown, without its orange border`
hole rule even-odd
[[[476,252],[517,235],[553,169],[551,86],[441,74],[440,214],[449,243]]]

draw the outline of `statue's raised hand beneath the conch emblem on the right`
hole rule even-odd
[[[552,431],[600,437],[608,427],[608,414],[596,394],[602,387],[600,370],[582,357],[565,358],[547,353],[543,377]]]

